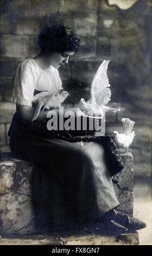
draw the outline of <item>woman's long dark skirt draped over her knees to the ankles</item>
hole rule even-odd
[[[12,127],[13,153],[35,163],[37,228],[53,224],[85,227],[119,205],[102,140],[70,142]]]

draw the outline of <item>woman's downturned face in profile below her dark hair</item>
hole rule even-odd
[[[50,55],[48,54],[49,65],[52,65],[54,66],[54,68],[59,69],[60,66],[68,63],[69,57],[73,54],[74,52],[54,52]]]

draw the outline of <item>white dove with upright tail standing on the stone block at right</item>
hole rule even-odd
[[[123,133],[113,131],[113,141],[116,143],[118,149],[125,149],[126,153],[135,136],[135,131],[132,131],[135,122],[129,118],[122,118],[122,123]]]

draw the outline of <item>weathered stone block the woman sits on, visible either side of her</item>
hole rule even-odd
[[[119,173],[119,182],[117,185],[117,197],[121,205],[119,210],[132,215],[133,212],[133,159],[131,153],[121,154],[124,163],[124,169]],[[31,197],[31,188],[33,164],[27,161],[14,159],[12,157],[1,158],[0,164],[0,224],[1,235],[23,235],[37,234],[41,230],[36,230],[34,220],[33,200]],[[73,243],[72,239],[67,244]],[[78,244],[79,239],[74,241]],[[97,244],[97,240],[92,237],[88,239],[91,244]],[[99,240],[98,240],[99,241]],[[84,245],[84,240],[81,241]],[[103,243],[102,243],[103,244]]]

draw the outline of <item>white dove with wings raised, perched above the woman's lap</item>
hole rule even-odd
[[[80,99],[80,109],[88,112],[88,115],[93,112],[94,115],[100,115],[103,118],[104,112],[117,112],[121,110],[120,108],[104,106],[111,100],[111,90],[107,88],[110,87],[110,84],[106,74],[109,62],[110,60],[104,60],[93,77],[90,99],[87,102],[83,98]]]

